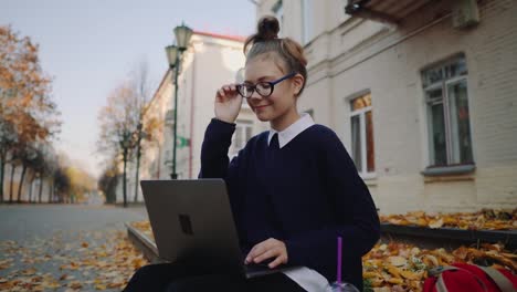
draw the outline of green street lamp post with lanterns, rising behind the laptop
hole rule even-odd
[[[178,174],[176,173],[176,148],[178,143],[178,74],[179,67],[181,66],[181,56],[187,50],[190,38],[192,36],[192,29],[181,24],[175,28],[176,42],[178,45],[171,44],[166,48],[167,59],[169,61],[170,70],[175,69],[173,84],[175,84],[175,125],[173,125],[173,138],[172,138],[172,173],[170,174],[171,179],[177,179]]]

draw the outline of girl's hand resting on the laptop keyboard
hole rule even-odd
[[[247,253],[244,263],[260,263],[270,258],[276,258],[270,262],[270,269],[274,269],[282,263],[287,263],[287,248],[284,241],[270,238],[255,244],[250,253]]]

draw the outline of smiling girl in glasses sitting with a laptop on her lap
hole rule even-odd
[[[362,291],[361,255],[379,239],[376,206],[337,135],[298,114],[307,61],[297,42],[277,38],[278,30],[275,18],[261,19],[244,45],[244,52],[251,46],[244,83],[218,91],[200,178],[225,180],[246,264],[297,268],[244,280],[202,275],[178,264],[148,265],[126,291],[140,284],[149,291],[150,282],[170,291],[325,291],[337,278],[338,237],[344,239],[341,279]],[[229,163],[243,98],[271,129],[251,138]]]

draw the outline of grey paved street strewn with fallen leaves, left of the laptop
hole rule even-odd
[[[0,291],[119,291],[146,264],[124,223],[145,208],[0,206]]]

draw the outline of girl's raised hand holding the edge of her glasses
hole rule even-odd
[[[236,90],[236,84],[221,86],[215,94],[215,117],[226,123],[235,123],[241,111],[242,96]]]

